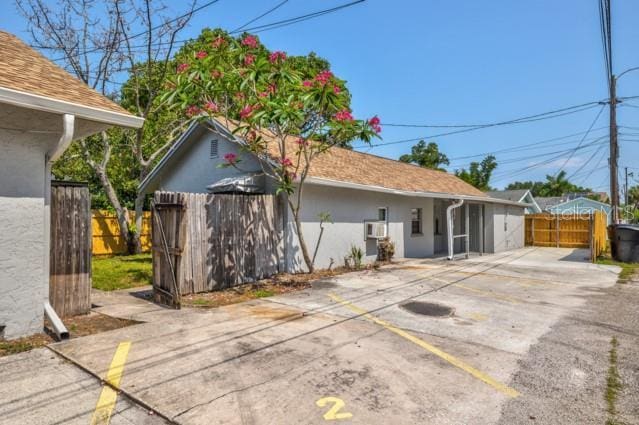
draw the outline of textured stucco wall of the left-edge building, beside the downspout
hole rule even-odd
[[[34,138],[0,130],[0,327],[13,339],[42,331],[45,152]]]

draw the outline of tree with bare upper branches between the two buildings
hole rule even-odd
[[[195,1],[182,2],[176,17],[162,0],[16,0],[28,21],[31,43],[55,57],[61,66],[89,87],[122,104],[145,123],[137,131],[118,129],[76,142],[56,175],[88,180],[115,211],[120,236],[131,252],[139,251],[145,197],[137,184],[152,169],[181,131],[157,101],[178,34],[193,16]],[[129,80],[120,90],[115,81],[124,71]],[[178,115],[176,115],[178,116]],[[79,154],[79,155],[78,155]],[[83,161],[84,165],[74,163]],[[90,174],[87,174],[87,168]],[[135,189],[133,189],[135,187]],[[134,190],[135,194],[131,192]],[[135,225],[129,209],[133,198]]]

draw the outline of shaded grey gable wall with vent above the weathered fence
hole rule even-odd
[[[218,141],[218,155],[211,158],[211,140]],[[170,165],[160,174],[157,189],[173,192],[206,193],[206,187],[220,179],[239,176],[244,171],[260,171],[259,162],[252,156],[240,151],[236,143],[231,143],[222,136],[207,130],[198,130],[196,137],[184,146]],[[224,155],[234,153],[241,159],[238,166],[242,171],[233,168],[218,168],[224,163]]]

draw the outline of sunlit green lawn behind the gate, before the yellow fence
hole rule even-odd
[[[102,291],[150,285],[151,254],[93,257],[93,287]]]

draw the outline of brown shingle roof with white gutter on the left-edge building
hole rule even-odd
[[[126,127],[140,127],[144,121],[4,31],[0,31],[0,102]]]

